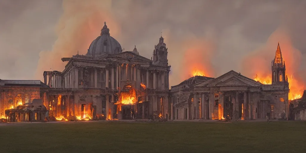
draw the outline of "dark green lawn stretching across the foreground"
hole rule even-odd
[[[0,125],[0,152],[306,151],[306,122],[57,122]]]

